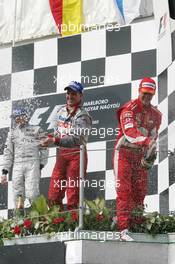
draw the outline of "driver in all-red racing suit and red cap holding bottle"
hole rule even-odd
[[[139,86],[139,96],[123,105],[118,111],[119,135],[114,150],[114,173],[117,188],[117,225],[122,240],[132,240],[127,235],[131,212],[142,207],[147,193],[148,168],[144,154],[153,145],[161,124],[161,113],[151,105],[156,84],[145,77]],[[156,152],[156,151],[155,151]]]

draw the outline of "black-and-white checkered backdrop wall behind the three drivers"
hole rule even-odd
[[[174,49],[175,33],[171,34]],[[89,138],[85,198],[104,197],[115,204],[112,153],[116,138],[116,110],[138,96],[140,80],[149,76],[158,84],[153,105],[163,113],[158,138],[158,157],[149,174],[146,211],[175,212],[175,53],[172,63],[157,71],[154,20],[133,23],[113,30],[86,32],[67,38],[49,38],[0,49],[0,164],[16,106],[28,109],[30,123],[51,131],[51,120],[65,103],[64,87],[70,81],[85,87],[84,105],[93,119]],[[107,135],[107,128],[110,132]],[[170,151],[171,152],[170,152]],[[42,170],[40,190],[47,196],[56,160],[56,148],[49,149],[49,161]],[[95,184],[96,182],[96,184]],[[64,200],[66,204],[66,199]],[[10,217],[14,208],[11,173],[0,185],[0,217]]]

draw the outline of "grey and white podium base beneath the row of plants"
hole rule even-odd
[[[134,233],[133,242],[121,242],[118,235],[80,231],[57,233],[49,239],[40,235],[5,240],[0,263],[175,264],[175,233],[155,237]]]

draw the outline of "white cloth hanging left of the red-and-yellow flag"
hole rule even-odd
[[[57,32],[49,0],[0,0],[0,43],[11,42],[13,38],[15,41],[39,38]]]

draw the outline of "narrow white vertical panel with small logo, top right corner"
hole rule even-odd
[[[157,38],[157,75],[159,75],[172,63],[170,15],[167,0],[153,0],[153,7]]]

